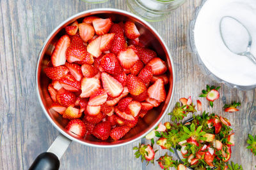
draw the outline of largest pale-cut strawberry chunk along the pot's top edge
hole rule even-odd
[[[112,22],[111,22],[111,18],[107,18],[107,19],[95,18],[92,21],[92,24],[96,34],[100,36],[109,32]]]

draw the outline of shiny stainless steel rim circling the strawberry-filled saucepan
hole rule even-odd
[[[154,29],[154,27],[152,27],[150,24],[148,24],[148,22],[146,22],[145,20],[143,20],[142,18],[129,13],[128,11],[124,11],[124,10],[118,10],[118,9],[114,9],[114,8],[97,8],[97,9],[93,9],[93,10],[87,10],[87,11],[82,11],[80,13],[77,13],[76,15],[73,15],[72,17],[67,18],[67,20],[65,20],[64,22],[61,22],[60,25],[58,25],[58,27],[56,27],[51,34],[49,34],[49,36],[47,37],[47,39],[44,42],[44,45],[42,46],[42,49],[40,50],[39,54],[38,54],[38,61],[36,64],[36,94],[38,97],[38,101],[41,105],[42,110],[44,111],[46,117],[48,118],[48,120],[51,122],[52,125],[54,125],[54,127],[61,132],[61,134],[63,134],[64,136],[66,136],[68,139],[72,140],[72,141],[76,141],[77,143],[81,143],[82,145],[86,145],[86,146],[93,146],[93,147],[99,147],[99,148],[113,148],[113,147],[118,147],[118,146],[124,146],[127,145],[129,143],[133,143],[134,141],[138,141],[139,139],[143,138],[144,136],[140,136],[138,138],[132,139],[131,141],[127,141],[126,143],[116,143],[113,145],[96,145],[96,144],[92,144],[92,143],[86,143],[84,141],[80,141],[79,139],[74,138],[73,136],[71,136],[70,134],[68,134],[67,132],[63,131],[60,127],[58,127],[58,125],[56,125],[54,123],[54,121],[52,120],[52,118],[49,116],[49,114],[47,113],[47,110],[45,110],[44,108],[44,104],[42,103],[41,97],[40,97],[40,92],[39,92],[39,88],[38,88],[38,67],[40,65],[40,58],[42,55],[42,51],[45,48],[46,43],[49,41],[49,39],[52,37],[52,35],[54,34],[54,32],[58,31],[58,29],[60,29],[60,27],[62,27],[62,25],[66,24],[68,21],[72,20],[73,18],[79,17],[80,15],[84,15],[85,13],[92,13],[92,12],[96,12],[96,11],[102,11],[102,13],[104,13],[104,11],[108,11],[108,12],[118,12],[118,13],[124,13],[126,15],[130,15],[131,17],[134,17],[138,20],[140,20],[140,22],[143,22],[144,24],[146,24],[150,29],[152,29],[152,31],[154,31],[154,33],[158,36],[158,38],[161,40],[161,43],[163,43],[164,48],[166,48],[166,52],[168,53],[168,57],[170,58],[170,62],[172,64],[172,73],[173,73],[173,85],[172,85],[172,94],[170,97],[170,101],[166,106],[166,110],[163,113],[163,116],[161,118],[159,118],[159,120],[156,122],[156,124],[154,124],[154,126],[152,126],[152,128],[148,129],[147,132],[145,132],[145,134],[148,134],[148,132],[152,131],[154,129],[154,127],[156,125],[158,125],[161,120],[163,119],[164,115],[166,115],[168,108],[170,107],[170,103],[172,101],[172,97],[173,97],[173,91],[174,91],[174,87],[175,87],[175,69],[173,68],[173,59],[171,57],[170,51],[168,50],[168,46],[166,45],[166,43],[164,43],[163,38],[161,38],[161,36],[158,34],[158,32],[156,31],[156,29]]]

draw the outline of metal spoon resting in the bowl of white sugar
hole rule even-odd
[[[252,36],[239,20],[230,16],[221,18],[220,34],[231,52],[248,57],[256,65],[256,57],[251,53]]]

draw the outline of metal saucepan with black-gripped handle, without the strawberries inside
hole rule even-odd
[[[166,61],[168,65],[168,76],[170,77],[170,83],[166,87],[166,101],[162,103],[159,107],[151,110],[145,117],[140,118],[136,127],[132,128],[120,141],[113,141],[108,139],[106,141],[100,141],[94,136],[85,136],[83,139],[77,138],[65,130],[65,126],[68,120],[62,118],[59,113],[50,109],[52,100],[47,91],[47,86],[49,84],[49,78],[45,75],[43,69],[47,67],[47,63],[51,59],[52,50],[54,50],[54,45],[56,41],[65,34],[65,27],[71,24],[75,20],[82,22],[84,17],[90,15],[95,15],[102,18],[111,17],[113,22],[120,22],[125,20],[133,20],[140,31],[140,40],[145,43],[149,48],[152,48],[157,52],[157,55]],[[133,15],[127,11],[102,8],[95,10],[83,11],[77,13],[76,15],[68,18],[62,22],[46,39],[42,50],[38,55],[38,63],[36,67],[36,92],[42,109],[49,121],[60,131],[60,135],[55,139],[47,152],[41,153],[33,162],[29,169],[58,169],[60,167],[60,158],[65,152],[65,150],[70,145],[71,141],[76,141],[86,146],[95,146],[99,148],[111,148],[116,146],[123,146],[138,139],[143,138],[145,134],[152,131],[154,127],[159,124],[161,119],[167,112],[167,108],[170,105],[173,96],[173,85],[174,85],[174,69],[173,60],[165,45],[163,39],[159,36],[157,31],[145,22],[140,17]]]

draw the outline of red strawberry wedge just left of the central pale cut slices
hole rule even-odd
[[[74,76],[72,76],[72,78],[74,78]],[[70,80],[68,77],[63,77],[59,81],[61,86],[70,92],[78,92],[81,89],[81,83],[77,80]]]

